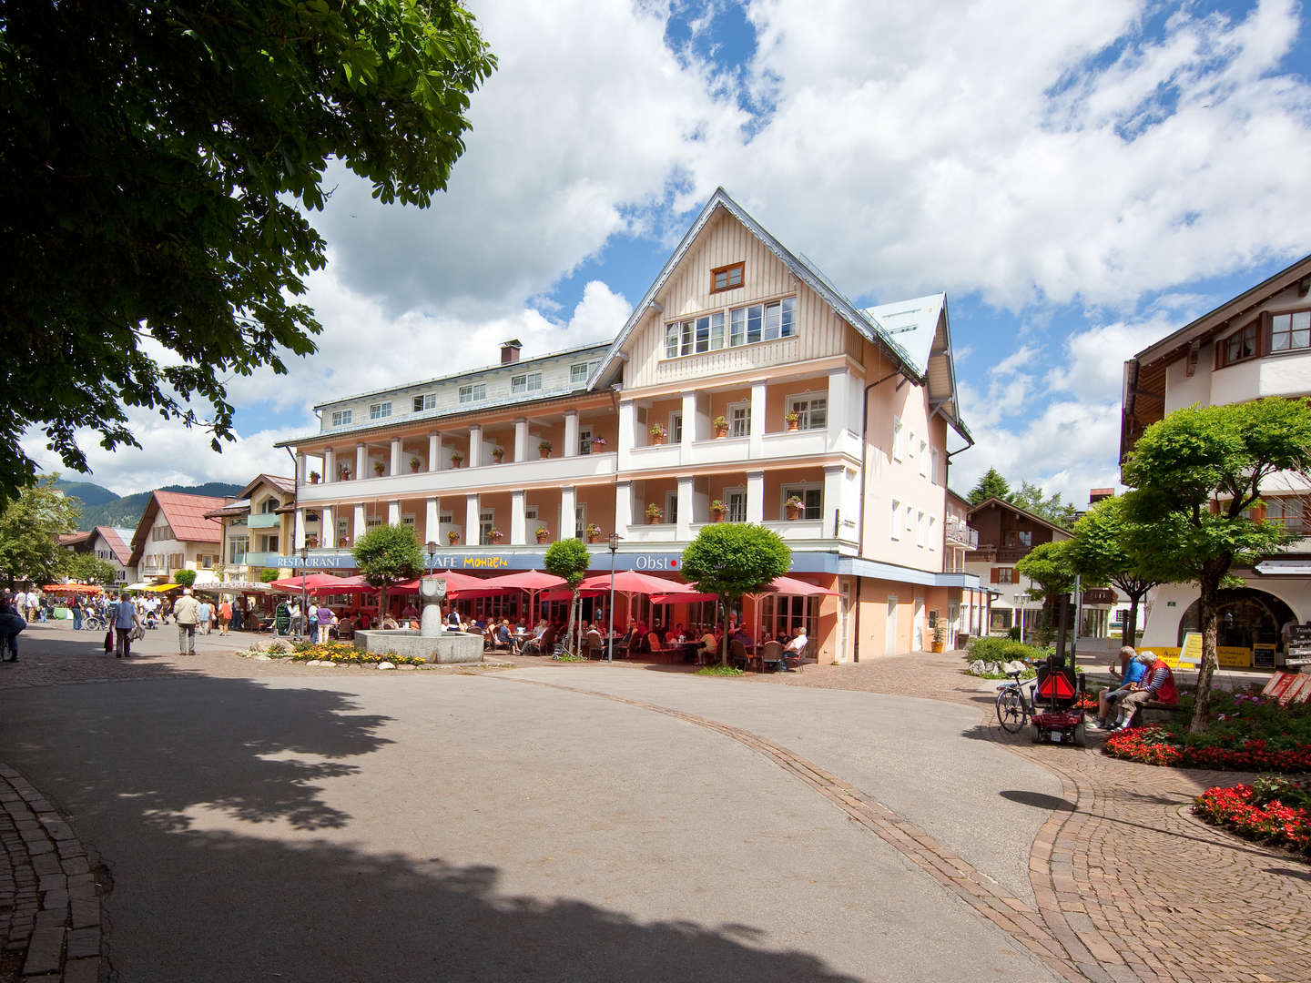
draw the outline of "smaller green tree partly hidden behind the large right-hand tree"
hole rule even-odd
[[[1079,519],[1070,543],[1070,561],[1088,583],[1112,583],[1129,598],[1122,642],[1133,645],[1138,606],[1152,587],[1177,579],[1179,571],[1159,554],[1133,552],[1141,531],[1127,515],[1124,497],[1104,498]]]

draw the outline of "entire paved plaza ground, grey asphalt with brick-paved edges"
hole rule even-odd
[[[378,671],[0,665],[0,967],[29,980],[1311,978],[1245,776],[1008,739],[960,657]]]

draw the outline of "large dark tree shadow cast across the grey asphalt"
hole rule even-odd
[[[515,896],[498,891],[497,866],[341,841],[329,831],[363,841],[362,820],[316,782],[354,776],[351,759],[392,743],[391,718],[349,693],[177,674],[5,704],[0,758],[71,811],[113,873],[115,979],[852,979],[759,948],[750,927]],[[440,776],[431,788],[438,802]]]

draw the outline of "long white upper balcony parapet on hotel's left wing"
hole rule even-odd
[[[308,506],[367,498],[464,494],[486,488],[514,489],[540,485],[541,482],[572,485],[576,481],[614,474],[616,457],[617,455],[614,452],[579,453],[574,457],[536,457],[506,464],[484,464],[477,468],[420,471],[384,474],[376,478],[302,485],[298,489],[299,503]]]

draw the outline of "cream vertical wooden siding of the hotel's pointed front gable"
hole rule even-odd
[[[711,270],[735,262],[746,263],[742,286],[712,294]],[[665,325],[669,321],[722,311],[726,332],[730,308],[789,295],[797,298],[794,337],[665,358]],[[797,280],[745,225],[722,211],[707,224],[687,250],[657,301],[665,308],[663,312],[652,311],[625,346],[629,355],[624,374],[627,389],[756,367],[796,364],[839,354],[860,357],[860,338],[852,328]]]

